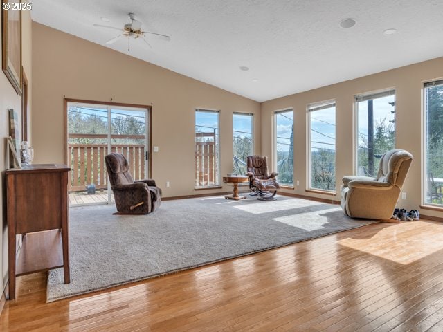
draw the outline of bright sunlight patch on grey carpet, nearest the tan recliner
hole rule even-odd
[[[278,218],[273,218],[272,220],[279,221],[280,223],[286,223],[287,225],[301,228],[302,230],[321,230],[323,225],[326,225],[327,216],[323,215],[328,212],[336,212],[341,210],[341,208],[332,208],[327,210],[322,210],[321,214],[318,212],[305,212],[300,214],[291,214],[290,216],[280,216]]]

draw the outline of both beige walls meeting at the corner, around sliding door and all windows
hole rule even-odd
[[[259,104],[189,77],[128,57],[58,30],[33,23],[33,108],[35,162],[63,162],[63,96],[84,100],[153,104],[153,177],[164,196],[196,194],[194,190],[194,110],[221,109],[221,174],[232,167],[232,113],[255,113],[255,152],[273,156],[273,111],[295,110],[296,194],[339,200],[305,192],[307,185],[307,116],[312,102],[336,100],[337,192],[339,179],[353,173],[354,95],[395,88],[397,147],[415,160],[404,185],[408,199],[399,207],[419,208],[421,202],[422,82],[443,77],[443,58],[341,82]],[[171,187],[166,188],[165,182]],[[224,186],[220,191],[229,190]],[[206,190],[198,192],[215,192]],[[426,210],[430,216],[440,212]]]

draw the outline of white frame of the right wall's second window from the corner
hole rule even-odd
[[[311,114],[314,113],[315,111],[321,111],[322,109],[329,109],[331,107],[334,107],[334,118],[336,118],[336,100],[332,99],[332,100],[324,100],[323,102],[313,102],[311,104],[307,104],[306,107],[306,112],[307,112],[307,191],[314,191],[314,192],[325,192],[327,194],[335,194],[336,193],[336,185],[337,185],[337,179],[335,176],[335,185],[334,185],[334,189],[333,190],[327,190],[327,189],[323,189],[323,188],[314,188],[312,187],[312,146],[311,146],[311,128],[312,128],[312,122],[311,122]],[[335,120],[335,138],[334,138],[334,142],[335,142],[335,147],[336,147],[336,141],[337,141],[337,137],[336,137],[336,120]],[[335,154],[335,159],[334,159],[334,174],[336,174],[336,161],[337,161],[337,154]]]

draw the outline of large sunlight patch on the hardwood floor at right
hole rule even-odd
[[[383,228],[368,239],[347,238],[338,244],[399,264],[410,264],[443,250],[443,224],[406,221]]]

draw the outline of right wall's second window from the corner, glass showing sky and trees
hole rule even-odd
[[[311,104],[309,113],[309,188],[335,191],[335,102]]]

